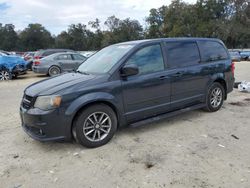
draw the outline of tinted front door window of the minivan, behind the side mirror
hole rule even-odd
[[[135,64],[139,74],[148,74],[164,70],[161,46],[159,44],[147,46],[133,54],[126,64]]]

